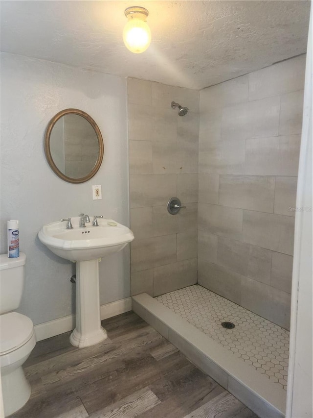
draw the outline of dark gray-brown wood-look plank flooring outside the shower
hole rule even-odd
[[[32,387],[14,418],[257,418],[133,312],[104,320],[86,348],[70,332],[40,341],[24,364]]]

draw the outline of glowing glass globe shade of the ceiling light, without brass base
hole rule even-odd
[[[151,42],[150,27],[142,19],[130,19],[123,29],[123,41],[135,54],[144,52]]]

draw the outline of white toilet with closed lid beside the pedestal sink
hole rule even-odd
[[[0,255],[0,370],[4,416],[27,402],[31,389],[22,365],[36,344],[34,325],[25,315],[13,312],[20,306],[26,256]]]

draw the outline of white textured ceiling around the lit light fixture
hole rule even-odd
[[[1,50],[201,89],[306,51],[310,1],[1,1]],[[129,6],[152,43],[123,45]]]

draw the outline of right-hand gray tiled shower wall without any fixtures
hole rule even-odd
[[[200,92],[198,283],[285,328],[305,55]]]

